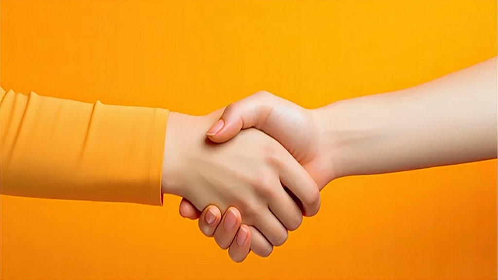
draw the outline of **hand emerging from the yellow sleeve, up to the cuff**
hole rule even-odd
[[[318,212],[318,187],[284,147],[262,132],[246,130],[223,145],[211,143],[205,132],[218,116],[170,113],[163,192],[182,196],[197,209],[210,204],[223,212],[229,206],[240,209],[242,222],[254,226],[249,227],[252,239],[269,241],[253,249],[265,255],[268,246],[283,244],[287,229],[296,229],[302,221],[301,210],[282,184],[301,201],[307,215]],[[235,228],[237,222],[231,224]],[[226,249],[230,243],[219,244]]]

